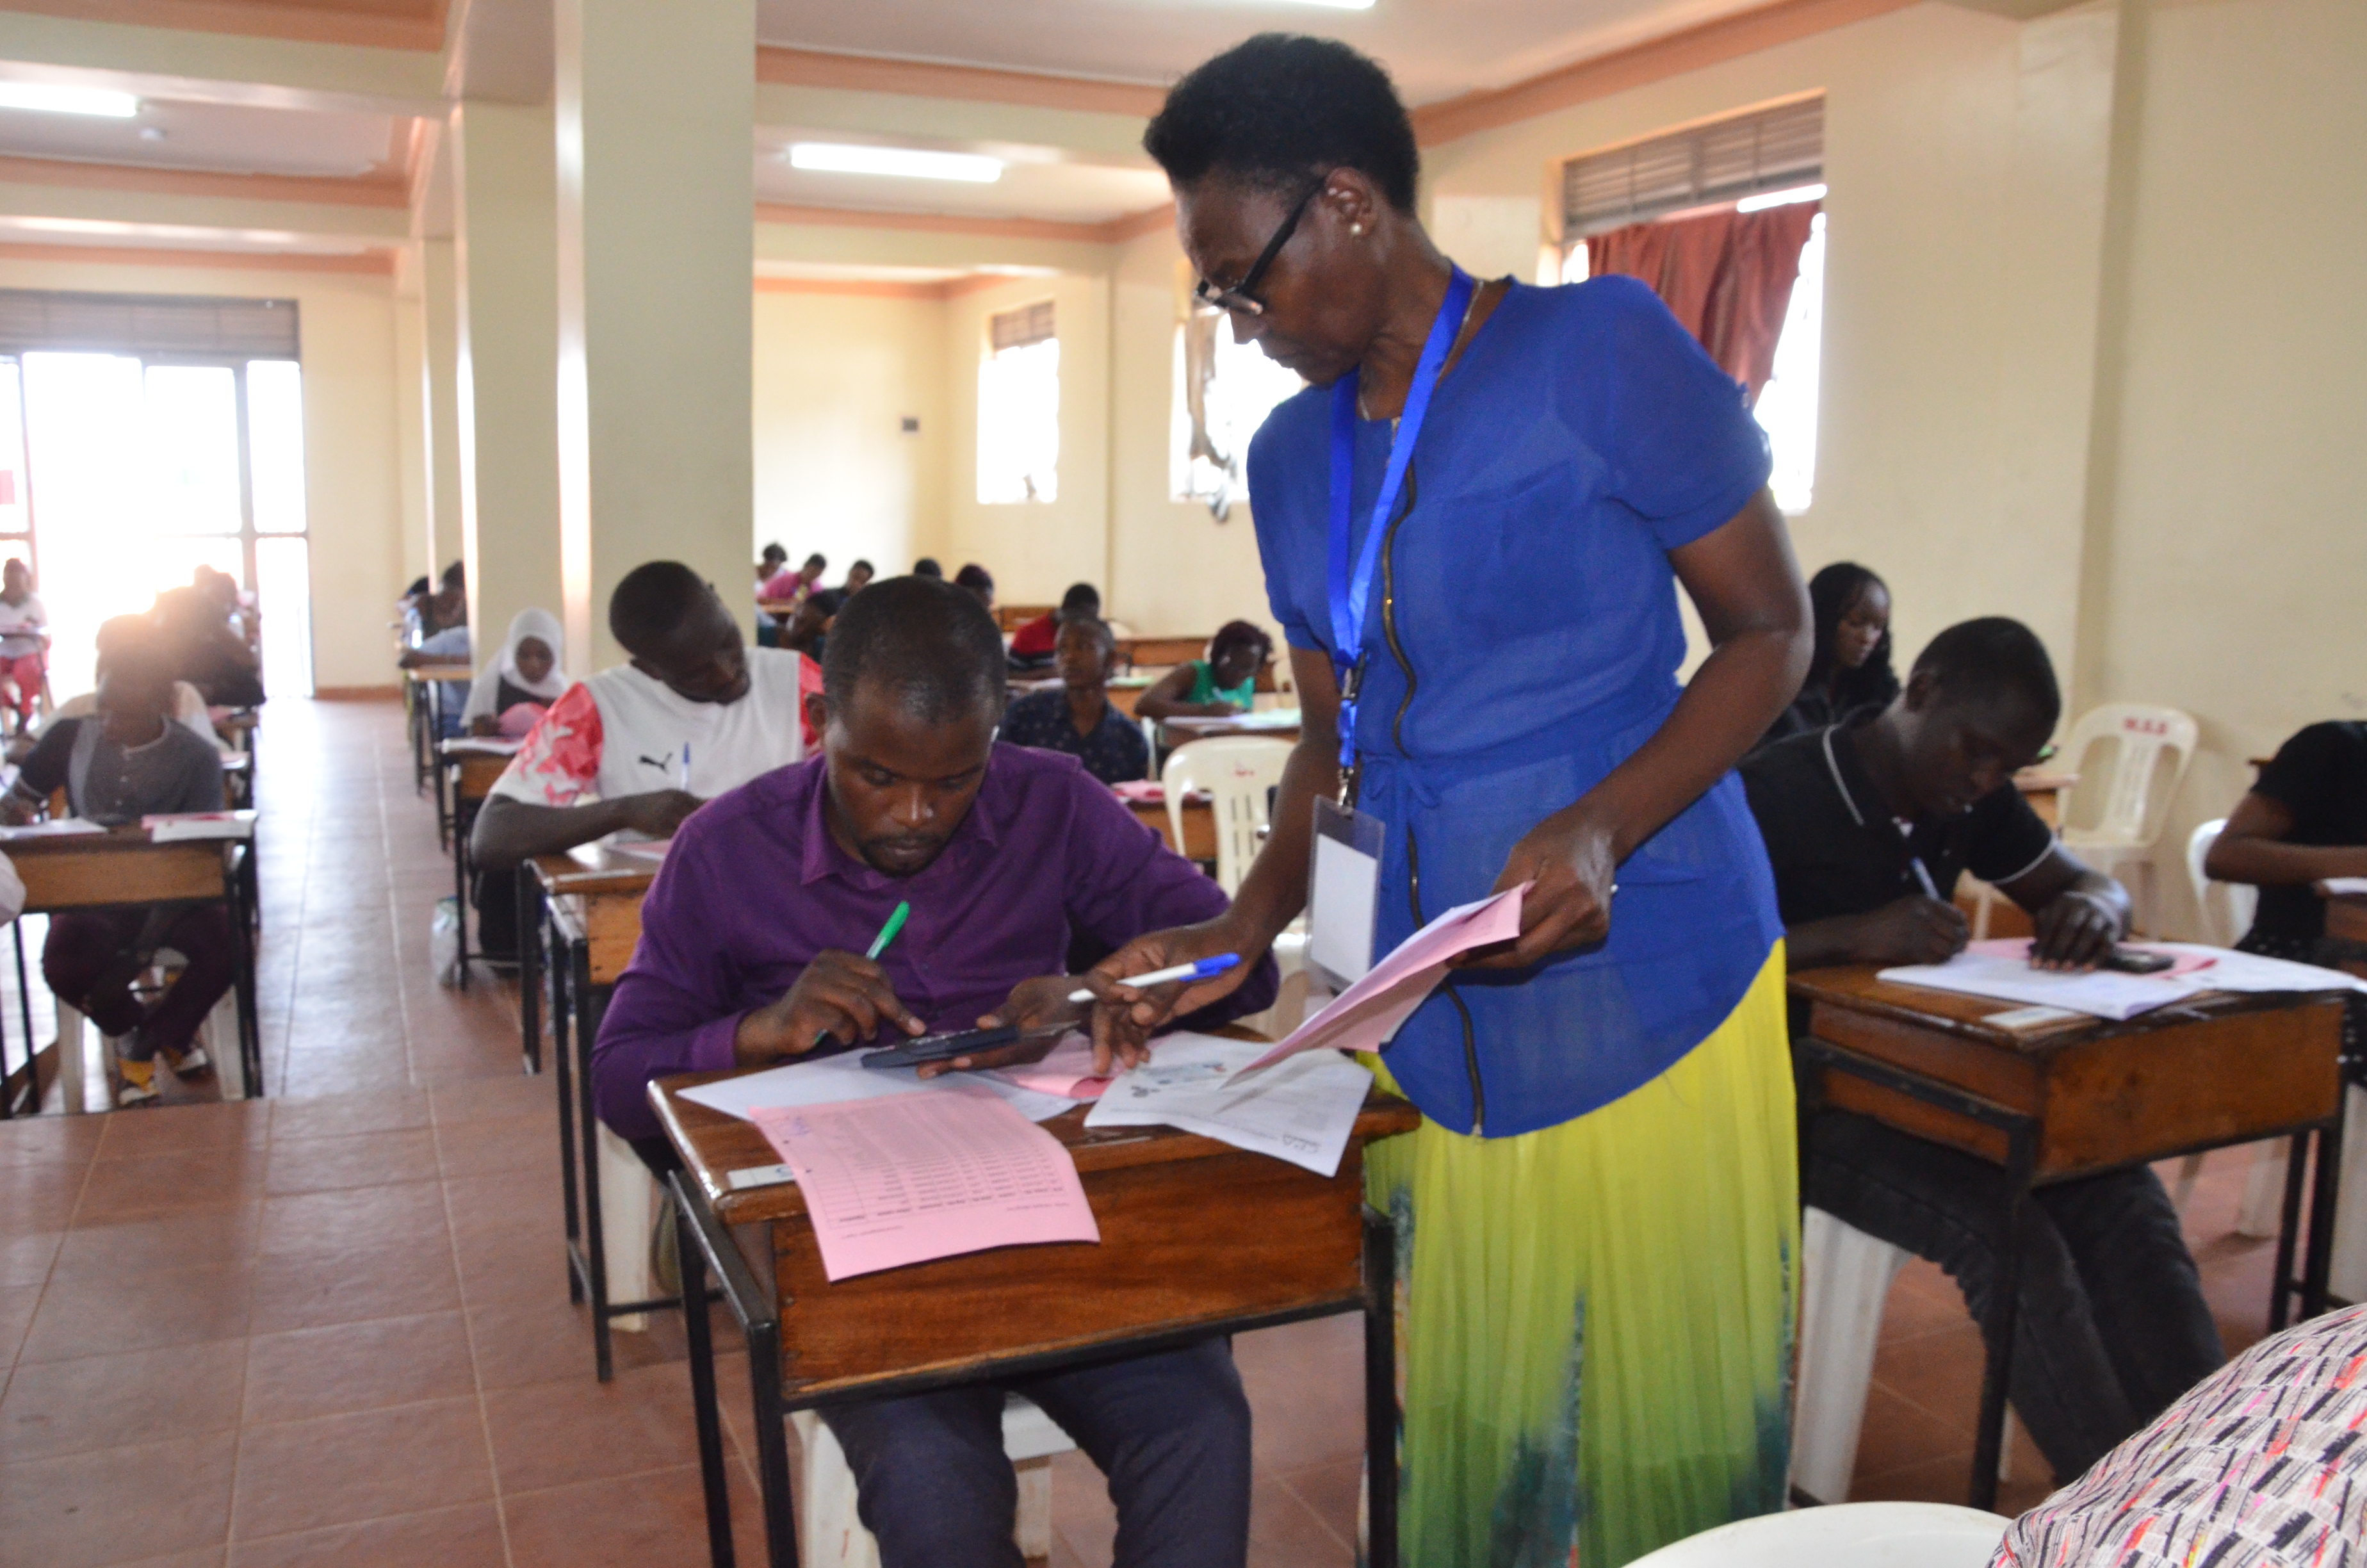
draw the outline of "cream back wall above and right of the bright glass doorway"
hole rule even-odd
[[[303,332],[312,682],[391,687],[386,623],[407,578],[393,279],[208,265],[0,258],[7,289],[294,298]]]

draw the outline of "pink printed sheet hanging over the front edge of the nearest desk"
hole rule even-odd
[[[890,1094],[757,1106],[798,1172],[831,1279],[1037,1241],[1101,1241],[1077,1161],[1001,1099]]]

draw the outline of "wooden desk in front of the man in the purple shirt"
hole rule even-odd
[[[795,1184],[734,1191],[729,1172],[779,1161],[753,1123],[679,1099],[724,1078],[651,1085],[682,1156],[672,1184],[691,1400],[708,1542],[731,1561],[708,1270],[748,1336],[757,1483],[769,1561],[798,1561],[791,1409],[1025,1376],[1148,1355],[1214,1334],[1363,1312],[1370,1554],[1397,1563],[1394,1236],[1363,1206],[1363,1144],[1411,1132],[1401,1099],[1373,1094],[1330,1180],[1172,1127],[1086,1130],[1084,1106],[1049,1123],[1084,1177],[1101,1244],[997,1248],[831,1284]],[[1250,1222],[1255,1220],[1255,1222]],[[734,1232],[731,1227],[755,1227]]]

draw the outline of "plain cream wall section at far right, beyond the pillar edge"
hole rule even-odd
[[[2367,715],[2367,5],[2133,19],[2083,685],[2201,722],[2156,855],[2185,917],[2185,836],[2251,786],[2246,758]]]

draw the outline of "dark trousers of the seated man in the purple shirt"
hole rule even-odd
[[[1165,1355],[821,1412],[883,1568],[1020,1568],[1004,1393],[1044,1407],[1110,1478],[1117,1568],[1240,1568],[1250,1402],[1221,1338]]]

